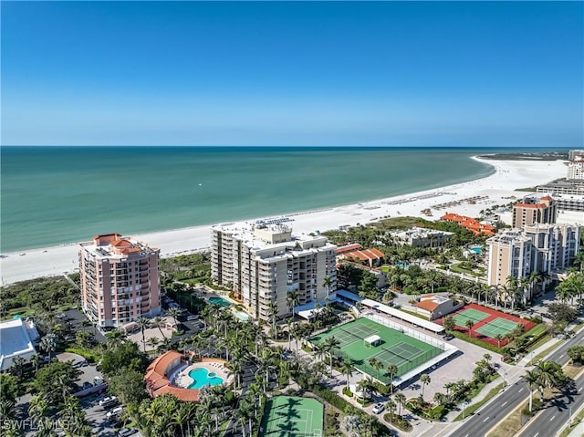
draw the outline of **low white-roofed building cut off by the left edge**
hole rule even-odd
[[[32,320],[13,318],[0,323],[0,371],[9,369],[16,357],[29,361],[36,354],[38,337]]]

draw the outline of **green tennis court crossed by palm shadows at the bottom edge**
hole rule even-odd
[[[324,407],[315,399],[276,396],[266,401],[260,436],[322,437]]]

